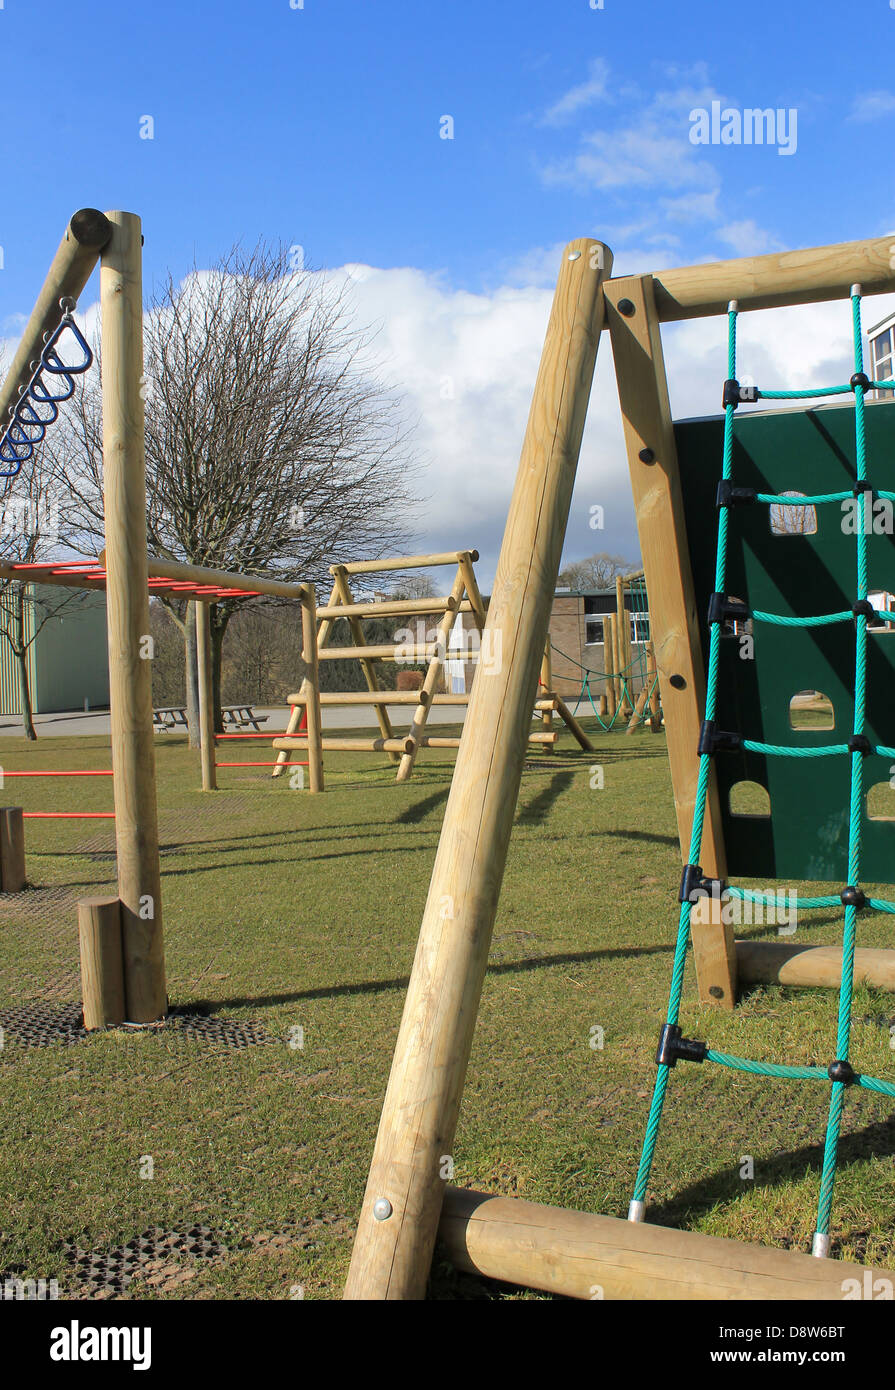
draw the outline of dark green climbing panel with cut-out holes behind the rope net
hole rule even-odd
[[[895,402],[867,406],[867,475],[895,491]],[[674,427],[703,657],[709,662],[707,602],[714,589],[716,493],[721,477],[723,417]],[[735,418],[732,484],[757,492],[842,492],[856,481],[855,407],[741,413]],[[813,534],[774,534],[771,507],[731,507],[727,594],[749,609],[809,616],[851,609],[856,598],[856,538],[844,528],[839,502],[816,507]],[[895,538],[869,535],[869,588],[895,592]],[[721,641],[717,727],[763,744],[842,744],[853,728],[855,624],[814,628],[753,623],[755,655],[741,656],[731,634]],[[867,719],[871,744],[895,746],[895,632],[869,632]],[[800,691],[830,698],[834,728],[792,728],[789,702]],[[693,749],[693,756],[696,751]],[[777,758],[749,752],[714,758],[727,869],[738,877],[848,881],[849,763],[831,758]],[[864,785],[889,784],[889,759],[864,759]],[[732,815],[731,788],[759,783],[770,816]],[[895,802],[895,792],[891,794]],[[864,799],[862,881],[895,881],[895,820],[869,819]]]

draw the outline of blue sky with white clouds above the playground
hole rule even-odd
[[[454,450],[475,453],[485,439],[495,452],[479,452],[467,474],[457,467],[466,510],[435,495],[420,537],[453,543],[457,525],[478,524],[481,535],[456,539],[478,539],[489,567],[564,242],[602,236],[627,272],[895,225],[889,0],[292,4],[3,0],[0,327],[13,335],[29,311],[79,206],[142,214],[147,286],[260,236],[300,243],[315,268],[371,267],[359,313],[385,325],[396,386],[427,346],[424,303],[454,325],[443,339],[454,370],[461,341],[463,360],[475,357],[467,329],[478,318],[493,328],[479,348],[493,378],[477,368],[475,389],[457,395]],[[795,108],[794,153],[693,146],[689,113],[713,100]],[[146,115],[151,140],[140,139]],[[450,140],[439,138],[445,115]],[[420,334],[417,349],[402,324]],[[707,377],[709,339],[687,342]],[[428,370],[438,379],[438,361]],[[713,375],[707,402],[716,385]],[[424,417],[421,457],[435,478],[450,445],[418,386],[409,404]],[[595,409],[603,420],[599,399]],[[607,438],[582,456],[585,491],[614,502],[611,527],[591,545],[581,496],[568,553],[637,549],[613,450]],[[482,461],[500,486],[478,506]]]

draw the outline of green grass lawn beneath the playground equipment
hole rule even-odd
[[[581,755],[563,734],[525,769],[454,1180],[624,1215],[664,1019],[680,853],[664,737],[595,739],[598,753]],[[3,739],[0,760],[107,767],[110,751],[103,738]],[[78,1001],[75,902],[110,891],[114,876],[111,821],[26,821],[33,887],[0,897],[0,1270],[57,1277],[74,1294],[83,1275],[72,1250],[114,1262],[160,1230],[183,1236],[181,1248],[145,1262],[124,1297],[339,1297],[453,755],[427,751],[403,787],[385,759],[329,755],[328,790],[314,799],[261,769],[222,771],[224,790],[203,795],[197,755],[172,735],[157,741],[157,760],[171,1004],[263,1041],[225,1047],[168,1026],[25,1045],[11,1011]],[[7,781],[6,795],[26,809],[104,810],[111,780]],[[888,944],[889,931],[885,919],[860,920],[863,945]],[[838,916],[820,910],[798,940],[839,933]],[[862,991],[855,1019],[855,1066],[891,1077],[895,1002]],[[723,1015],[696,1005],[688,969],[681,1022],[720,1051],[826,1065],[835,995],[756,990]],[[591,1047],[595,1026],[602,1049]],[[817,1083],[677,1068],[652,1219],[807,1248],[827,1101]],[[894,1150],[892,1102],[846,1093],[834,1252],[895,1268]],[[752,1180],[741,1177],[746,1155]],[[195,1227],[214,1241],[210,1258],[185,1248]],[[439,1261],[432,1294],[532,1297]]]

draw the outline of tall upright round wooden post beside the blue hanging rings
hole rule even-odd
[[[103,486],[115,842],[126,1015],[167,1012],[153,746],[140,220],[108,213],[103,252]]]

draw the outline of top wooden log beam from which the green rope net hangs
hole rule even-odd
[[[739,302],[741,310],[819,304],[848,299],[849,288],[856,284],[864,295],[889,295],[895,291],[894,245],[892,236],[876,236],[660,270],[653,275],[659,320],[675,322],[723,314],[731,299]],[[613,297],[617,284],[610,281],[606,286]]]

